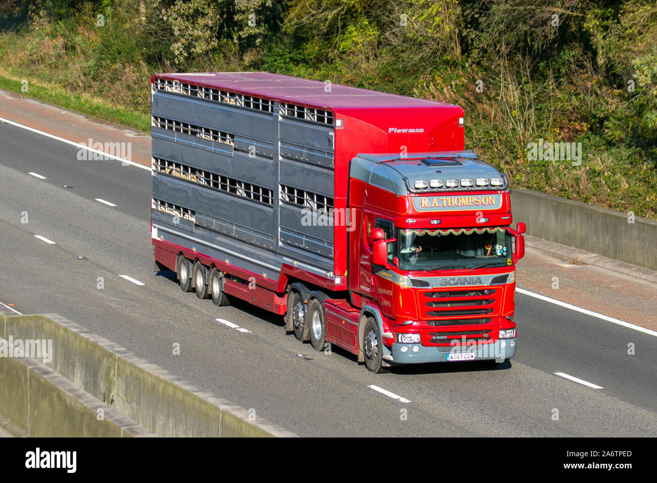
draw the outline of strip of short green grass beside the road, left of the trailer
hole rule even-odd
[[[74,95],[64,89],[39,85],[35,82],[28,83],[28,91],[23,92],[21,90],[22,85],[20,80],[0,76],[0,89],[5,91],[54,104],[95,120],[113,122],[119,126],[131,127],[145,133],[150,131],[150,117],[145,114],[133,112],[120,106],[111,106],[98,99],[92,99],[85,95]]]

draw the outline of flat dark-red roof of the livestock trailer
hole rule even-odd
[[[292,104],[312,104],[323,108],[368,107],[439,107],[453,104],[427,101],[417,97],[388,94],[346,85],[327,84],[321,81],[299,79],[270,74],[269,72],[204,72],[182,74],[155,74],[156,78],[178,80],[202,87],[234,91]]]

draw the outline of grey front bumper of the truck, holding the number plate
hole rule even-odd
[[[406,347],[406,352],[401,348]],[[414,348],[418,348],[415,352]],[[422,344],[392,344],[390,355],[384,357],[387,362],[398,364],[419,364],[426,362],[447,362],[447,355],[461,352],[474,352],[474,361],[504,361],[516,355],[516,339],[496,340],[492,344],[472,346],[422,346]]]

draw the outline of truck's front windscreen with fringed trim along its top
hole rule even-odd
[[[503,228],[416,230],[397,229],[399,268],[506,267],[511,235]]]

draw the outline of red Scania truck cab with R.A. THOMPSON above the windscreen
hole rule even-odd
[[[503,173],[472,151],[359,154],[349,202],[350,290],[382,319],[363,334],[366,362],[373,347],[381,365],[514,356],[524,223],[511,227]]]

